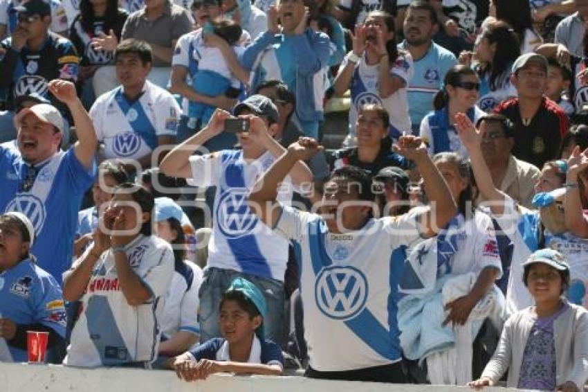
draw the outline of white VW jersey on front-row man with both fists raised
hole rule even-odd
[[[348,371],[401,360],[396,292],[406,250],[421,236],[413,209],[329,233],[319,215],[282,206],[275,231],[300,267],[304,337],[316,371]]]

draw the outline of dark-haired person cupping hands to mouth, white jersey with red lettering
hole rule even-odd
[[[64,299],[82,302],[65,365],[149,368],[156,359],[174,256],[151,233],[153,208],[144,188],[118,186],[93,244],[64,274]]]

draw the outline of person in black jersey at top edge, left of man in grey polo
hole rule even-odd
[[[94,39],[104,38],[108,33],[120,42],[122,26],[128,16],[125,10],[118,8],[117,0],[80,1],[80,13],[73,19],[69,38],[81,56],[77,81],[84,97],[84,105],[88,108],[96,99],[92,84],[95,71],[113,60],[111,51],[95,48]]]

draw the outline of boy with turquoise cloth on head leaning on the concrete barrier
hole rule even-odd
[[[266,300],[255,285],[235,278],[219,306],[222,338],[175,357],[169,363],[186,381],[204,380],[212,373],[281,375],[282,350],[264,339]]]

